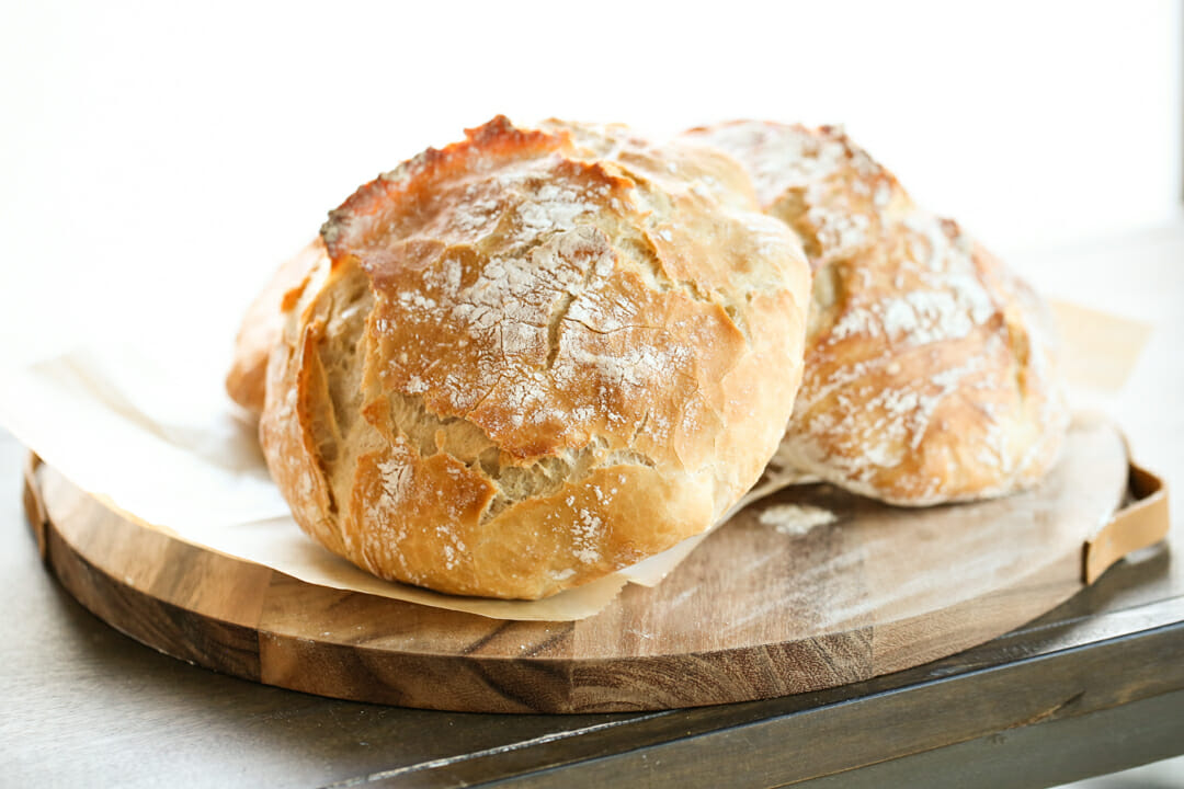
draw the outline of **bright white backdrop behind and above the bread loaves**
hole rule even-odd
[[[175,5],[0,9],[4,361],[229,353],[328,209],[496,112],[842,122],[1025,265],[1178,212],[1176,2]]]

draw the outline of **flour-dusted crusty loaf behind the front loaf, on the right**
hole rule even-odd
[[[1068,410],[1047,311],[1027,284],[918,208],[839,129],[735,122],[688,136],[745,164],[815,272],[783,459],[913,506],[1044,476]]]

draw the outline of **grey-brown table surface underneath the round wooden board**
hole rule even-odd
[[[1182,259],[1175,227],[1018,261],[1058,296],[1157,325],[1111,409],[1170,483],[1184,478]],[[0,784],[1045,787],[1184,752],[1179,517],[1167,544],[1040,620],[897,674],[696,710],[482,716],[256,685],[116,633],[38,560],[21,461],[2,434]]]

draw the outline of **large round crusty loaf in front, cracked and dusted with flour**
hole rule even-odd
[[[726,155],[502,117],[466,137],[330,213],[260,441],[330,550],[535,599],[702,532],[758,479],[809,266]]]

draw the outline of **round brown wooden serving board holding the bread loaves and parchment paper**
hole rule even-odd
[[[309,693],[474,712],[655,710],[854,683],[969,648],[1082,588],[1119,506],[1119,432],[1074,423],[1036,491],[927,510],[811,485],[752,505],[656,588],[579,622],[500,621],[313,586],[122,519],[41,466],[31,517],[96,615],[161,652]],[[836,520],[786,533],[771,506]],[[37,513],[37,515],[34,515]]]

